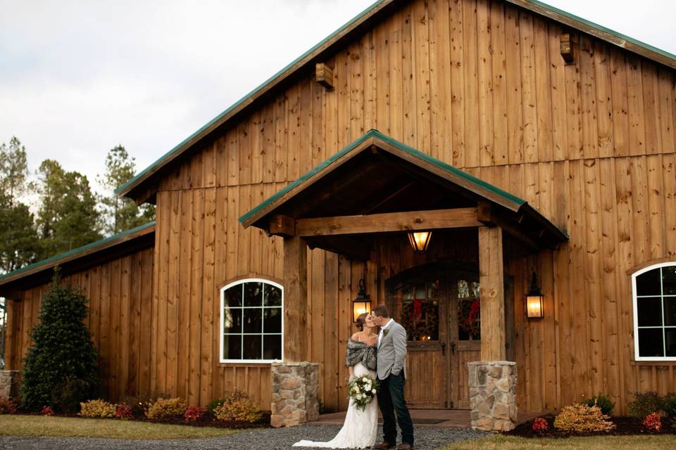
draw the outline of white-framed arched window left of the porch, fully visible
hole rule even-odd
[[[220,362],[274,362],[283,358],[284,288],[259,278],[220,290]]]

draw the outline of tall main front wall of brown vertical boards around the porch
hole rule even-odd
[[[280,238],[237,217],[376,128],[520,195],[570,234],[557,252],[506,266],[520,408],[608,392],[623,413],[632,392],[674,386],[672,364],[632,361],[626,271],[675,257],[675,72],[585,36],[565,65],[561,32],[501,1],[412,1],[327,61],[334,90],[308,73],[168,173],[157,195],[151,385],[202,405],[237,387],[269,406],[268,366],[218,364],[218,288],[282,278]],[[368,263],[372,292],[378,264]],[[518,314],[533,268],[542,321]],[[308,358],[322,364],[327,409],[344,409],[363,264],[313,250],[308,269]]]

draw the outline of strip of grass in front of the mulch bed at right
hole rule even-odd
[[[445,446],[443,450],[663,450],[676,446],[676,436],[594,436],[565,439],[527,439],[513,436],[491,436]]]

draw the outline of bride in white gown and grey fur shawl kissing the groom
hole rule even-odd
[[[357,318],[358,333],[354,333],[347,342],[346,364],[350,381],[359,376],[368,375],[375,380],[378,336],[374,333],[375,323],[370,314],[361,314]],[[375,444],[378,432],[378,403],[375,397],[363,411],[350,401],[345,423],[336,437],[329,442],[296,442],[294,446],[323,447],[325,449],[363,449]]]

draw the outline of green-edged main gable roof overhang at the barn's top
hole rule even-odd
[[[379,0],[375,2],[375,4],[366,8],[365,11],[356,15],[356,17],[349,20],[348,23],[323,39],[323,41],[320,41],[317,45],[306,51],[306,53],[303,53],[293,60],[292,63],[280,70],[280,72],[277,72],[275,75],[265,80],[263,84],[256,87],[256,89],[253,89],[249,94],[246,94],[246,96],[235,102],[230,108],[227,108],[223,113],[214,117],[205,124],[204,127],[201,127],[188,136],[187,139],[162,155],[161,158],[146,167],[142,172],[139,172],[137,176],[134,176],[130,181],[127,181],[127,183],[115,190],[115,193],[119,196],[134,198],[134,200],[147,200],[147,198],[151,196],[151,189],[146,185],[151,179],[156,179],[158,172],[160,172],[163,167],[170,164],[170,162],[175,161],[190,148],[193,148],[200,142],[208,139],[214,131],[222,129],[228,122],[234,120],[235,117],[239,117],[244,111],[248,111],[250,108],[253,108],[254,105],[263,101],[263,99],[268,98],[275,88],[284,86],[285,83],[288,83],[300,70],[328,58],[332,53],[335,53],[347,39],[351,39],[353,35],[362,32],[366,27],[382,18],[382,16],[386,15],[392,8],[399,6],[399,4],[402,4],[404,1],[406,0]],[[676,55],[657,49],[656,47],[645,44],[637,39],[632,39],[619,32],[609,30],[606,27],[601,27],[601,25],[596,25],[589,20],[566,13],[565,11],[561,11],[558,8],[554,8],[553,6],[549,6],[537,0],[505,1],[515,6],[525,8],[533,13],[543,15],[546,18],[555,20],[563,25],[574,28],[575,30],[591,34],[598,39],[620,46],[622,49],[637,53],[645,58],[654,60],[657,63],[666,65],[669,68],[676,69]]]

